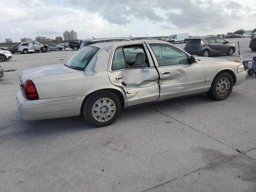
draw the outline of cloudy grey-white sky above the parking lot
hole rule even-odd
[[[223,34],[256,28],[255,0],[1,0],[0,35],[12,38]]]

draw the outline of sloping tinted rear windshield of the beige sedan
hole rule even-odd
[[[86,46],[74,54],[65,65],[72,69],[83,71],[99,49],[97,47]]]

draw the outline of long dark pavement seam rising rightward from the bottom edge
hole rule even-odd
[[[242,156],[242,155],[244,155],[244,154],[238,154],[238,155],[236,155],[236,156],[226,158],[226,159],[221,160],[221,161],[219,161],[219,162],[216,162],[216,163],[214,163],[214,164],[211,164],[211,165],[208,165],[208,166],[205,166],[205,167],[202,167],[202,168],[198,168],[198,169],[196,169],[196,170],[194,170],[194,171],[192,171],[192,172],[189,172],[189,173],[187,173],[187,174],[184,174],[183,176],[174,178],[174,179],[172,179],[172,180],[170,180],[170,181],[168,181],[168,182],[161,183],[161,184],[159,184],[159,185],[156,185],[156,186],[154,186],[154,187],[151,187],[151,188],[149,188],[149,189],[147,189],[147,190],[144,190],[144,191],[142,191],[142,192],[150,191],[150,190],[152,190],[152,189],[155,189],[155,188],[158,188],[158,187],[163,186],[163,185],[165,185],[165,184],[168,184],[168,183],[170,183],[170,182],[172,182],[172,181],[175,181],[175,180],[181,179],[181,178],[183,178],[183,177],[189,176],[190,174],[193,174],[193,173],[198,172],[198,171],[200,171],[200,170],[205,170],[205,169],[214,167],[214,166],[216,166],[216,165],[218,165],[218,164],[221,164],[221,163],[223,163],[223,162],[229,161],[229,160],[231,160],[231,159],[234,159],[234,158],[239,157],[239,156]]]

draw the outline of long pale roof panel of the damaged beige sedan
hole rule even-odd
[[[134,44],[143,44],[143,43],[161,43],[161,44],[170,44],[168,42],[162,40],[135,40],[135,41],[115,41],[115,42],[104,42],[104,43],[96,43],[90,44],[88,46],[98,47],[98,48],[106,48],[110,46],[126,46],[126,45],[134,45]]]

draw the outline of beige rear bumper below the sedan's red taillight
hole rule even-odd
[[[41,120],[80,115],[85,96],[27,100],[22,91],[16,95],[19,115],[24,120]]]

